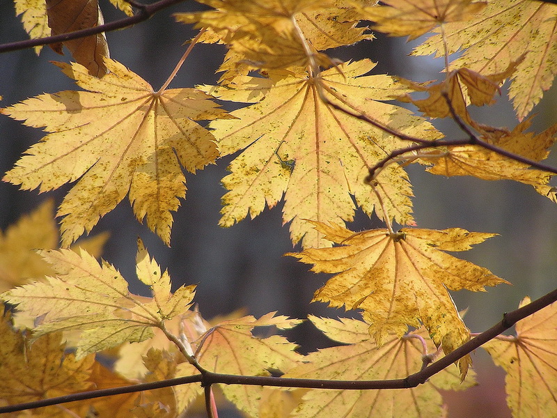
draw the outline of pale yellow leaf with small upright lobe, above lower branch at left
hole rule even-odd
[[[153,293],[146,302],[127,290],[127,282],[106,262],[99,265],[85,251],[43,250],[56,277],[12,289],[1,297],[17,309],[44,316],[36,336],[58,330],[80,330],[77,357],[118,346],[125,341],[144,341],[152,327],[187,311],[195,286],[182,286],[170,293],[168,273],[161,274],[155,261],[139,247],[137,275]]]

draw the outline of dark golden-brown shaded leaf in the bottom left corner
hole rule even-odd
[[[29,344],[4,314],[0,320],[0,399],[13,405],[91,389],[88,378],[94,359],[94,355],[80,360],[66,355],[61,332]],[[56,406],[47,408],[49,416],[63,416]]]

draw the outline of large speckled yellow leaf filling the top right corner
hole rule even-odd
[[[432,36],[413,54],[448,54],[466,49],[450,68],[469,68],[480,74],[494,74],[526,54],[519,63],[509,95],[519,120],[540,101],[557,73],[557,6],[529,0],[489,1],[487,7],[468,22],[444,25],[445,37]],[[439,31],[439,29],[436,29]]]

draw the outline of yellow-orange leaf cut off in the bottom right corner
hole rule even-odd
[[[530,303],[525,297],[519,307]],[[517,336],[482,347],[507,372],[507,404],[515,418],[551,417],[557,410],[557,303],[519,320]]]

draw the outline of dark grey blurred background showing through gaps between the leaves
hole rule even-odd
[[[185,2],[132,28],[107,33],[111,57],[158,88],[185,51],[183,42],[195,35],[188,26],[175,23],[171,14],[191,11],[194,7],[193,2]],[[101,8],[107,22],[123,17],[108,1],[101,1]],[[376,36],[376,40],[334,50],[330,55],[344,60],[369,57],[378,62],[373,70],[375,74],[400,75],[418,82],[437,79],[442,59],[407,56],[416,42],[407,44],[399,38]],[[26,33],[15,17],[13,4],[0,1],[0,42],[24,39]],[[217,81],[214,72],[223,52],[223,47],[218,45],[197,45],[171,87],[214,84]],[[1,104],[8,106],[43,92],[74,89],[74,83],[49,63],[51,60],[70,61],[70,56],[58,56],[49,47],[45,47],[40,56],[31,49],[2,54]],[[556,93],[549,91],[535,107],[538,116],[534,119],[533,130],[540,132],[557,122],[555,100]],[[505,94],[493,107],[478,109],[473,115],[478,121],[494,126],[512,128],[517,124]],[[450,121],[434,121],[434,124],[449,138],[463,137]],[[0,174],[13,167],[24,150],[40,137],[40,130],[1,117]],[[162,268],[168,268],[175,287],[198,284],[196,300],[205,318],[227,314],[240,307],[255,316],[269,311],[297,318],[305,318],[308,313],[342,315],[324,304],[309,303],[313,292],[327,280],[326,275],[308,272],[307,265],[282,256],[292,251],[288,226],[281,226],[282,203],[230,229],[217,226],[220,199],[225,192],[220,180],[226,175],[230,159],[223,158],[217,165],[198,171],[196,175],[186,174],[187,199],[174,215],[171,247],[166,247],[146,226],[136,222],[130,203],[125,199],[93,229],[92,235],[111,231],[103,258],[130,279],[132,291],[143,292],[134,279],[136,238],[140,236]],[[556,159],[550,162],[557,166]],[[554,220],[557,208],[554,203],[537,194],[532,187],[510,181],[443,178],[425,173],[416,164],[408,167],[408,171],[416,195],[414,213],[418,226],[431,229],[459,226],[469,231],[500,234],[459,255],[512,283],[512,286],[489,288],[487,293],[462,291],[453,294],[459,309],[469,308],[466,323],[472,331],[479,332],[496,323],[503,312],[516,309],[524,295],[534,299],[554,288],[557,269],[557,222]],[[38,194],[0,183],[0,229],[6,229],[48,197],[54,197],[59,204],[68,189],[63,187]],[[349,224],[354,231],[378,226],[382,224],[377,218],[370,220],[361,212]],[[297,327],[288,336],[297,341],[304,352],[329,344],[308,324]],[[490,365],[483,351],[473,357],[480,387],[451,396],[448,416],[510,417],[505,406],[501,369]]]

